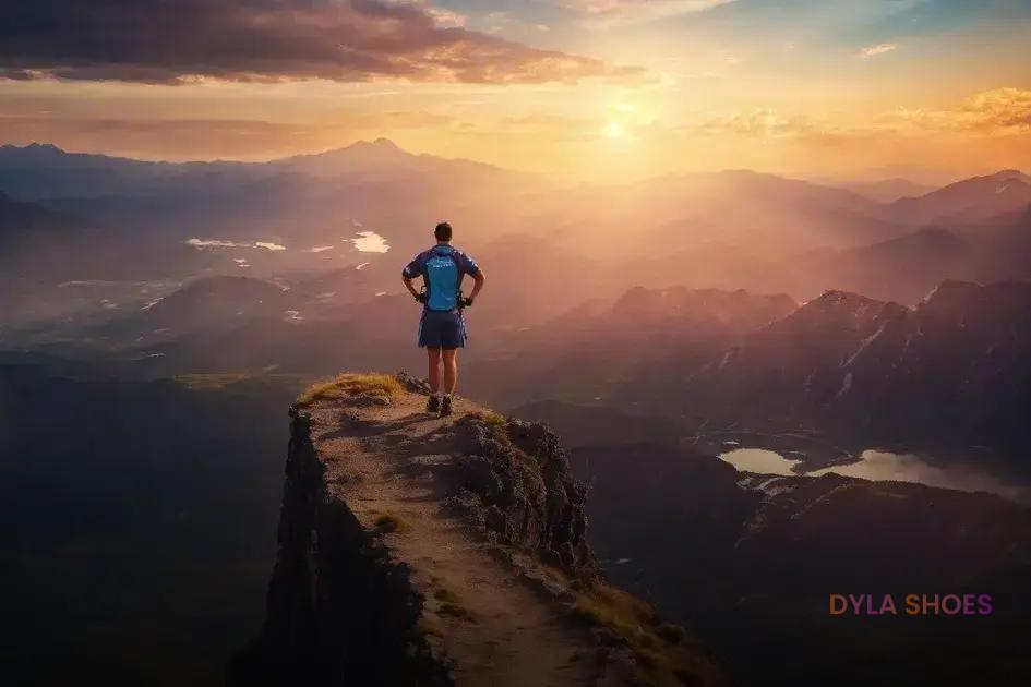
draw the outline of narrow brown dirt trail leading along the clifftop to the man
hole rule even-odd
[[[440,638],[457,684],[598,684],[598,644],[588,630],[492,555],[460,517],[442,513],[446,494],[433,469],[457,450],[447,427],[477,408],[457,399],[455,414],[441,419],[424,402],[403,393],[386,407],[326,400],[311,408],[333,495],[412,568],[425,596],[423,629]]]

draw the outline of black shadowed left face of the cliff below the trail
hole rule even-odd
[[[449,684],[415,631],[422,602],[407,566],[328,496],[310,418],[292,414],[267,618],[228,684]]]

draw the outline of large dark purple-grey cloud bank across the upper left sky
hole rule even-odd
[[[0,79],[633,80],[639,68],[442,26],[422,0],[26,0],[0,22]]]

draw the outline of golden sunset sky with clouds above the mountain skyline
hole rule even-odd
[[[1031,168],[1028,0],[37,0],[0,24],[0,143],[938,182]]]

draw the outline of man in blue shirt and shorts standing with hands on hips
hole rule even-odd
[[[401,273],[405,288],[422,303],[419,321],[419,347],[424,348],[430,363],[430,400],[428,412],[451,414],[451,396],[458,384],[458,349],[466,342],[466,323],[461,317],[483,288],[483,272],[471,257],[451,244],[451,225],[442,221],[433,230],[436,245],[416,255]],[[411,281],[422,276],[422,291]],[[461,279],[472,277],[475,286],[468,297],[461,294]],[[444,394],[441,395],[441,361],[444,362]]]

